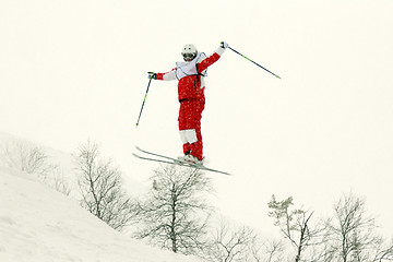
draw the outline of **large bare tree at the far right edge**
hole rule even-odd
[[[366,201],[347,194],[334,205],[329,223],[331,258],[343,262],[393,261],[393,246],[376,235],[376,218],[366,215]]]

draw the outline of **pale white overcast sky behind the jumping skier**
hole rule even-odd
[[[217,203],[260,226],[275,193],[329,212],[367,198],[391,236],[393,1],[0,1],[0,130],[74,152],[98,141],[127,176],[156,167],[134,145],[181,154],[177,82],[152,82],[193,43],[226,40],[206,79],[202,120]]]

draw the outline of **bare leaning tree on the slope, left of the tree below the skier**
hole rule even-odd
[[[75,162],[83,198],[81,205],[115,229],[132,224],[135,205],[121,189],[119,169],[110,159],[99,158],[97,143],[87,141],[80,147]]]

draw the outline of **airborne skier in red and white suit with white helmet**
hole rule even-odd
[[[184,156],[179,159],[194,164],[203,164],[203,142],[201,133],[201,118],[204,109],[204,78],[207,68],[215,63],[228,44],[222,41],[215,52],[206,57],[199,52],[194,45],[184,45],[181,55],[184,61],[176,62],[176,68],[166,73],[148,72],[148,79],[171,81],[178,80],[179,132],[183,143]]]

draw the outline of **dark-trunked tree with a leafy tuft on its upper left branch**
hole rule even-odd
[[[321,243],[325,228],[320,225],[310,225],[313,212],[291,210],[291,205],[294,205],[291,196],[277,201],[273,195],[269,202],[271,209],[269,216],[275,219],[274,225],[279,227],[285,238],[295,248],[295,262],[299,262],[303,260],[302,257],[307,248]]]

